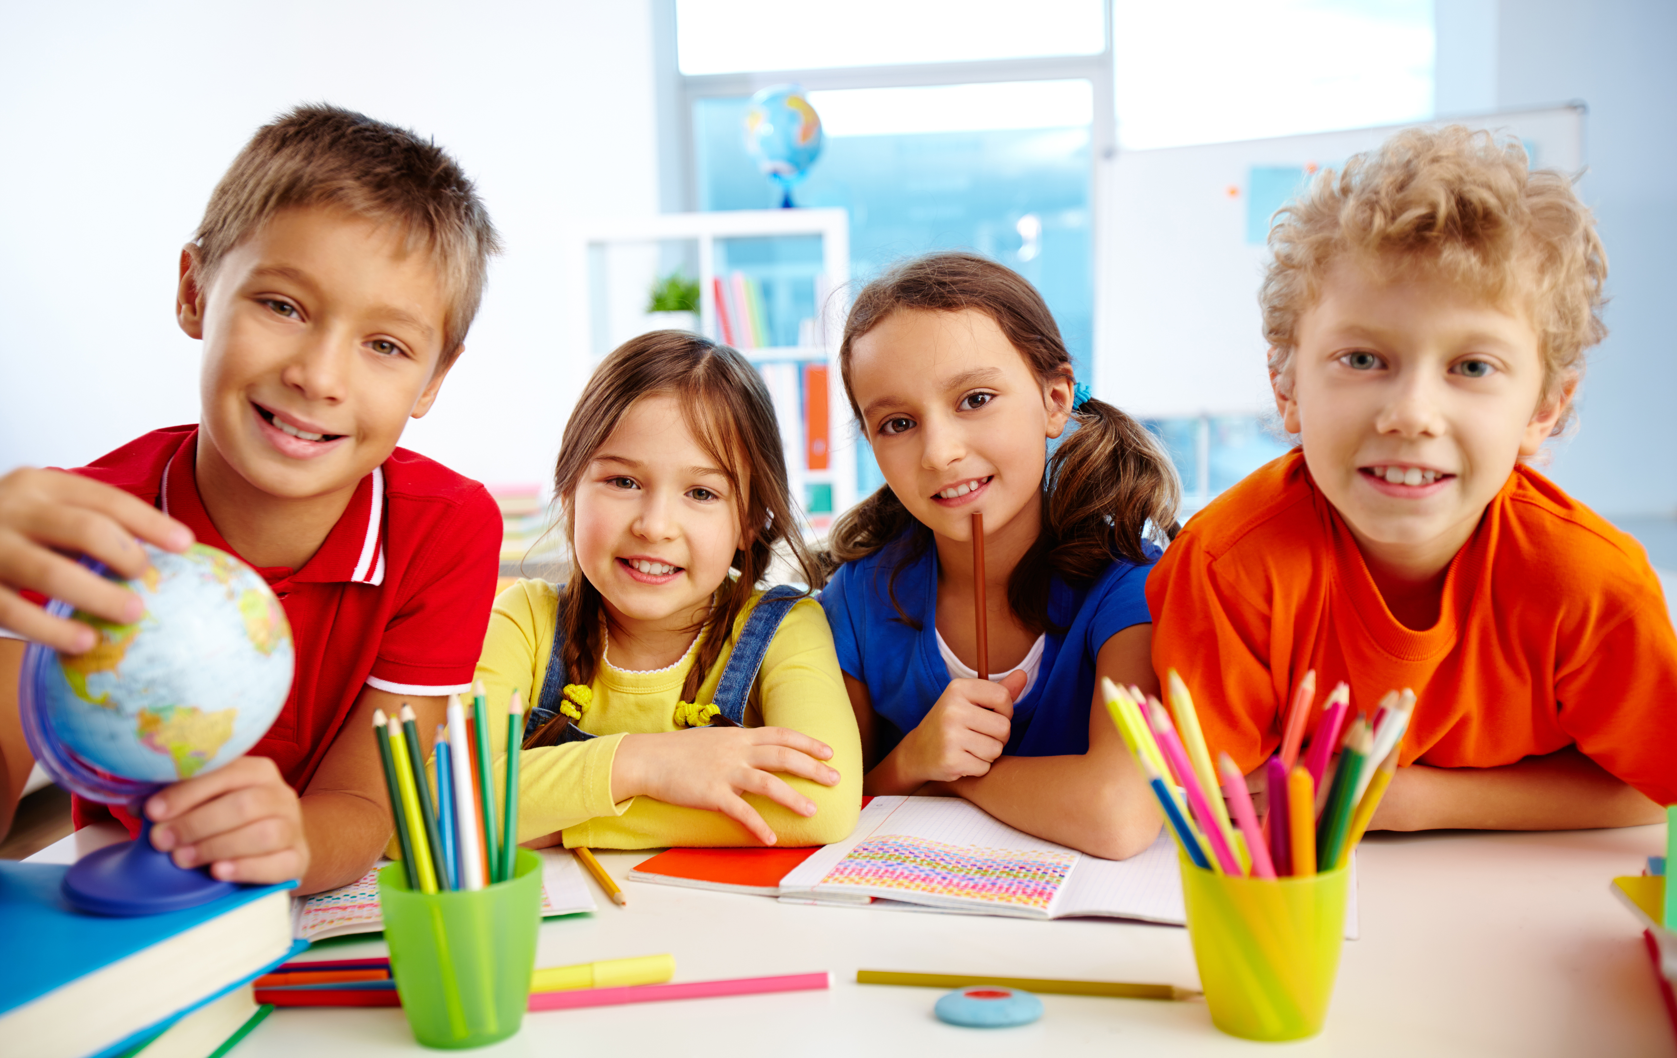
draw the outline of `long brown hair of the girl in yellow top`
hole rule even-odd
[[[676,397],[688,429],[714,466],[728,475],[743,530],[743,547],[733,558],[738,577],[723,580],[716,589],[711,610],[699,625],[699,656],[681,687],[681,699],[693,701],[728,646],[733,624],[758,580],[768,572],[776,547],[790,552],[792,563],[812,587],[820,587],[822,575],[803,547],[793,513],[787,458],[763,377],[743,355],[709,339],[683,330],[642,334],[619,345],[594,369],[565,423],[553,468],[553,495],[563,505],[560,525],[572,553],[569,583],[558,599],[567,679],[594,682],[604,652],[600,592],[575,560],[577,483],[629,407],[651,396]],[[563,716],[555,716],[533,731],[525,746],[552,744],[565,723]]]

